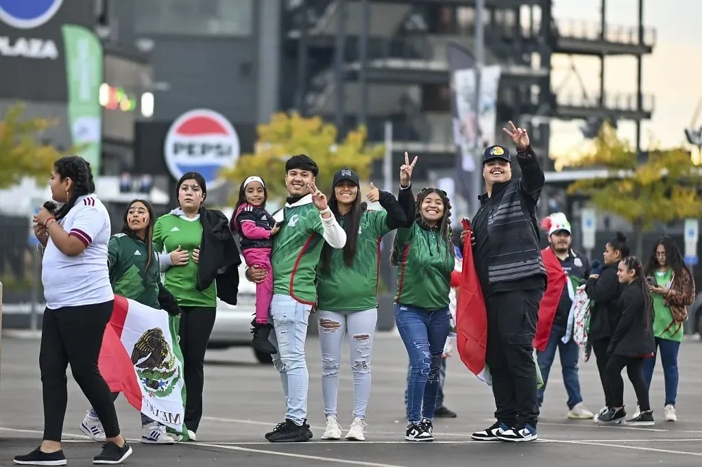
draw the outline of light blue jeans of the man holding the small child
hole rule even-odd
[[[289,295],[273,295],[270,320],[274,332],[270,341],[277,348],[273,365],[280,372],[287,403],[286,419],[302,426],[307,418],[307,388],[310,374],[305,360],[307,322],[312,306],[301,304]]]

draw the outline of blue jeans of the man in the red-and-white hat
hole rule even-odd
[[[570,339],[567,344],[563,344],[561,337],[565,334],[565,330],[560,326],[551,328],[551,335],[548,338],[548,344],[543,352],[537,352],[536,360],[538,367],[541,370],[543,378],[543,386],[538,390],[538,406],[543,404],[543,392],[546,390],[548,374],[551,372],[551,365],[558,350],[561,360],[561,371],[563,374],[563,383],[566,386],[568,393],[568,408],[572,409],[580,402],[583,402],[583,396],[580,393],[580,379],[578,379],[578,358],[580,358],[580,347],[573,339]]]

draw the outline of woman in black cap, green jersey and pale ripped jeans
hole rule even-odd
[[[329,208],[346,232],[343,249],[325,243],[317,268],[319,344],[322,346],[322,395],[326,430],[323,440],[341,438],[336,420],[336,401],[344,334],[348,332],[354,381],[353,422],[347,440],[363,441],[366,406],[371,394],[371,348],[378,318],[378,259],[380,239],[414,217],[410,187],[417,158],[400,171],[399,202],[395,196],[372,187],[371,202],[380,201],[384,211],[367,210],[359,194],[359,177],[350,169],[336,172]]]

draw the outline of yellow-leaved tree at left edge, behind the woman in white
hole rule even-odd
[[[0,116],[0,189],[18,184],[23,177],[33,177],[46,182],[56,159],[62,154],[51,144],[41,144],[38,139],[55,121],[47,119],[22,120],[25,106],[16,104]]]

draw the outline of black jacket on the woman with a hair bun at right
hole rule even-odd
[[[585,293],[590,299],[595,300],[590,310],[590,332],[588,332],[590,341],[611,337],[619,323],[621,310],[617,301],[623,285],[619,283],[619,278],[616,276],[618,266],[618,262],[604,266],[599,278],[588,278],[585,284]]]

